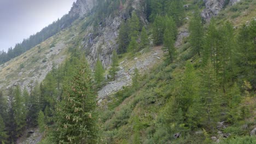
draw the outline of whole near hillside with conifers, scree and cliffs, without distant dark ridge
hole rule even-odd
[[[254,143],[255,9],[253,0],[78,0],[70,27],[1,65],[0,138]]]

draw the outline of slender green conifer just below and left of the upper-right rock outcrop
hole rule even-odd
[[[193,19],[189,22],[189,42],[195,53],[198,53],[200,56],[200,51],[203,45],[203,26],[201,21],[201,14],[197,8],[194,11]]]

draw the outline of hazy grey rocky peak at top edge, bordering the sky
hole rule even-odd
[[[83,17],[86,14],[91,13],[91,9],[95,6],[96,0],[77,0],[73,3],[73,7],[69,11],[71,17]]]

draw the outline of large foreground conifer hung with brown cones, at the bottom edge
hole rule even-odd
[[[83,58],[56,111],[57,143],[96,143],[96,93],[92,87],[90,67]]]

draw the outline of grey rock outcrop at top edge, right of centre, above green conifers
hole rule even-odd
[[[206,8],[202,11],[201,16],[205,19],[218,15],[225,4],[225,0],[203,0],[203,2]]]

